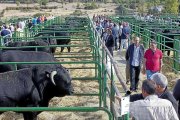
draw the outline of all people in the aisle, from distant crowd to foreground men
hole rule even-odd
[[[140,73],[146,74],[141,93],[130,95],[129,112],[132,118],[179,120],[180,80],[173,92],[168,90],[167,77],[162,74],[163,53],[157,48],[156,40],[150,40],[150,46],[145,50],[140,37],[134,36],[130,40],[131,29],[127,22],[113,23],[105,15],[94,15],[93,21],[112,56],[114,50],[121,52],[126,49],[126,83],[130,82],[131,93],[138,90]],[[121,100],[120,96],[116,98]]]

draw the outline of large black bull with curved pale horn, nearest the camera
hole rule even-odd
[[[54,96],[70,94],[70,81],[55,79],[56,71],[38,74],[38,68],[0,73],[0,107],[47,107]],[[36,120],[40,112],[22,112],[25,120]]]

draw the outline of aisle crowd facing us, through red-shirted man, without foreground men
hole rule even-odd
[[[96,30],[113,56],[114,50],[126,50],[126,83],[130,82],[130,90],[137,91],[140,72],[147,75],[147,79],[162,68],[162,51],[157,48],[156,40],[150,41],[149,49],[145,50],[140,43],[141,38],[134,36],[130,40],[131,28],[128,22],[114,23],[105,15],[93,16]],[[119,46],[119,47],[118,47]],[[122,55],[122,54],[120,54]]]

